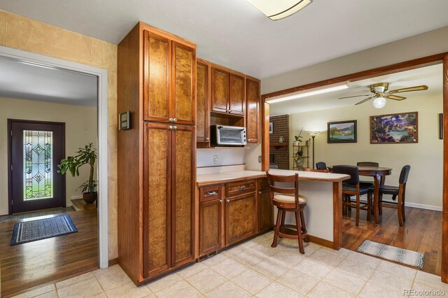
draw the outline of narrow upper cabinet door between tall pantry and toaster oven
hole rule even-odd
[[[209,141],[209,66],[202,62],[197,62],[197,122],[196,141]]]

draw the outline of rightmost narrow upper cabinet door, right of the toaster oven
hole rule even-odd
[[[246,134],[248,143],[260,142],[260,82],[246,79]]]

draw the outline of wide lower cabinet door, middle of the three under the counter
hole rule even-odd
[[[255,234],[257,213],[255,192],[225,199],[225,246]]]

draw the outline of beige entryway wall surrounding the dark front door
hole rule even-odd
[[[97,108],[52,104],[43,101],[7,99],[0,97],[0,164],[8,164],[7,120],[39,120],[65,123],[65,152],[73,156],[79,147],[97,144]],[[89,179],[88,166],[80,169],[79,177],[66,176],[66,204],[71,197],[79,196],[79,185]],[[8,169],[0,168],[0,215],[8,214]]]

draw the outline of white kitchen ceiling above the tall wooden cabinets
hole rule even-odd
[[[314,0],[275,22],[245,0],[15,0],[0,9],[116,44],[141,20],[261,79],[448,25],[447,0]]]

